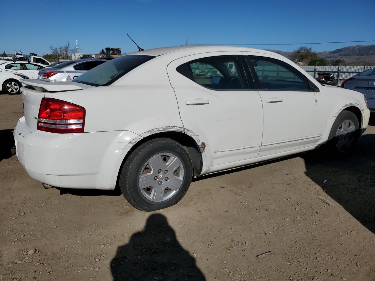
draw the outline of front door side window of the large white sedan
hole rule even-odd
[[[275,58],[249,56],[262,90],[310,91],[305,75],[284,61]]]

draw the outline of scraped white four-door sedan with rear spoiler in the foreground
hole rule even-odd
[[[150,49],[71,82],[23,83],[25,116],[14,137],[28,174],[45,187],[118,184],[143,211],[177,203],[193,176],[327,142],[346,154],[370,116],[363,94],[240,47]]]

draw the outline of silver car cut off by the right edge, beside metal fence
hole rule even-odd
[[[375,67],[344,80],[341,87],[364,94],[368,108],[375,112]]]

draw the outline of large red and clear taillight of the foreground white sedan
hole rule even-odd
[[[51,133],[83,133],[86,110],[63,100],[43,98],[37,129]]]

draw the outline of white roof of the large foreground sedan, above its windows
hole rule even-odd
[[[238,47],[238,46],[217,46],[217,45],[189,45],[189,46],[174,46],[174,47],[163,47],[163,48],[155,48],[155,49],[147,49],[140,52],[133,52],[129,55],[152,55],[152,56],[159,56],[168,54],[171,52],[178,52],[178,51],[185,51],[187,49],[191,49],[192,51],[207,51],[215,52],[215,51],[248,51],[248,52],[258,52],[264,54],[273,54],[277,55],[275,52],[265,51],[261,49],[254,49],[254,48],[247,48],[247,47]]]

